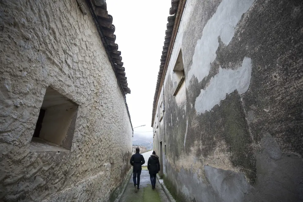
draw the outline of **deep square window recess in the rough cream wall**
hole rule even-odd
[[[78,105],[48,87],[32,137],[35,151],[70,150],[74,135]]]

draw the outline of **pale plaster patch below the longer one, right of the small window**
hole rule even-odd
[[[252,63],[250,58],[244,58],[242,66],[236,70],[219,68],[219,73],[210,80],[206,89],[201,89],[200,95],[196,98],[195,108],[197,114],[210,111],[221,100],[226,98],[235,90],[241,95],[245,93],[250,84]]]

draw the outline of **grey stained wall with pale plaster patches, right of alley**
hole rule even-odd
[[[159,98],[165,125],[153,123],[178,201],[303,200],[302,8],[187,0]],[[180,49],[185,84],[173,96]]]

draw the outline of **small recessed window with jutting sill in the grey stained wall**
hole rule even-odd
[[[173,77],[174,77],[174,86],[176,86],[174,91],[174,96],[177,95],[181,85],[185,80],[184,76],[184,66],[183,66],[183,57],[182,57],[182,50],[180,49],[176,64],[173,70]]]

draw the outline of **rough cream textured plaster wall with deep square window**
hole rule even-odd
[[[2,1],[0,13],[0,201],[108,201],[132,128],[91,15],[74,0]],[[30,147],[48,86],[79,105],[70,151]]]

